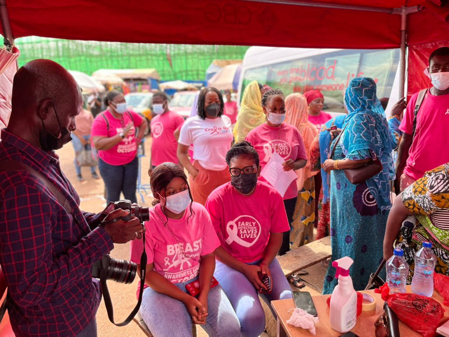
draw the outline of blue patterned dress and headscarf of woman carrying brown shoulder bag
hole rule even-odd
[[[395,175],[391,152],[399,138],[393,132],[397,131],[398,121],[391,119],[387,123],[375,95],[375,83],[371,81],[356,78],[350,83],[345,93],[349,111],[344,123],[346,129],[332,157],[334,160],[378,157],[383,166],[379,174],[360,184],[350,183],[343,170],[331,172],[332,261],[345,256],[354,260],[350,275],[355,290],[365,289],[370,273],[382,260],[383,236],[391,207],[390,181]],[[354,86],[361,90],[351,91]],[[335,268],[329,263],[323,294],[331,293],[336,284]]]

